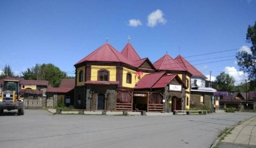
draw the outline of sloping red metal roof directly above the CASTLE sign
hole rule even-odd
[[[147,74],[137,82],[134,88],[135,89],[151,88],[164,74],[165,74],[165,71]]]

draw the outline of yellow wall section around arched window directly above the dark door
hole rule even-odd
[[[109,71],[109,81],[116,81],[117,68],[116,66],[91,66],[91,80],[97,81],[98,79],[98,70],[106,69]]]

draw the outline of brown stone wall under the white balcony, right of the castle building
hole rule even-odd
[[[200,102],[202,92],[191,92],[190,94],[190,108],[199,108],[203,109],[204,105],[212,108],[212,100],[211,93],[203,93],[204,94],[204,103]]]

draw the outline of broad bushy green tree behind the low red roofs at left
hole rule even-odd
[[[62,79],[67,77],[65,72],[53,64],[36,64],[34,67],[22,72],[22,74],[25,80],[49,81],[53,87],[59,87]]]

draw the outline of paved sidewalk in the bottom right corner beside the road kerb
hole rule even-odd
[[[256,116],[235,126],[221,141],[219,148],[256,148]]]

